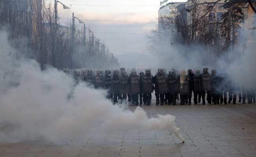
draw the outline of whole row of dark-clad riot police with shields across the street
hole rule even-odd
[[[64,69],[68,75],[72,74],[77,83],[81,80],[93,85],[96,89],[107,89],[107,98],[116,103],[132,105],[150,105],[152,93],[155,91],[156,105],[173,104],[180,100],[180,104],[194,104],[202,101],[208,104],[236,104],[237,95],[239,102],[245,104],[255,102],[255,90],[239,89],[232,84],[224,70],[209,72],[204,67],[195,72],[192,69],[177,71],[176,69],[158,69],[153,77],[150,69]]]

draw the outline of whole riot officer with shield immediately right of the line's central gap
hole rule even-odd
[[[165,93],[169,93],[169,88],[167,85],[167,77],[163,69],[158,69],[157,74],[154,76],[153,82],[155,84],[155,93],[156,93],[156,105],[163,105],[165,101]]]

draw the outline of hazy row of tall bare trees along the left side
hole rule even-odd
[[[61,26],[54,17],[54,7],[44,0],[0,0],[0,28],[7,30],[16,57],[35,59],[42,69],[118,66],[106,44],[86,27]]]

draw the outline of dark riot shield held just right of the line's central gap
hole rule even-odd
[[[169,88],[167,85],[167,77],[164,71],[162,73],[158,72],[156,75],[156,80],[158,84],[158,91],[160,94],[169,93]]]

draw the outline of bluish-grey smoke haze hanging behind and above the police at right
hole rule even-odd
[[[251,20],[249,20],[251,21]],[[255,21],[255,18],[252,20]],[[178,71],[184,69],[201,69],[208,66],[209,73],[212,69],[225,69],[224,79],[231,79],[231,86],[238,90],[256,90],[256,30],[245,29],[246,35],[239,36],[239,44],[231,51],[222,52],[218,57],[211,52],[211,49],[204,46],[193,46],[191,48],[184,45],[170,44],[170,39],[163,37],[161,43],[155,43],[154,60],[147,60],[156,68],[175,68]],[[250,35],[248,40],[247,35]],[[169,41],[169,42],[168,42]],[[243,50],[243,44],[246,49]],[[244,51],[244,53],[243,53]],[[224,83],[224,82],[223,82]]]

